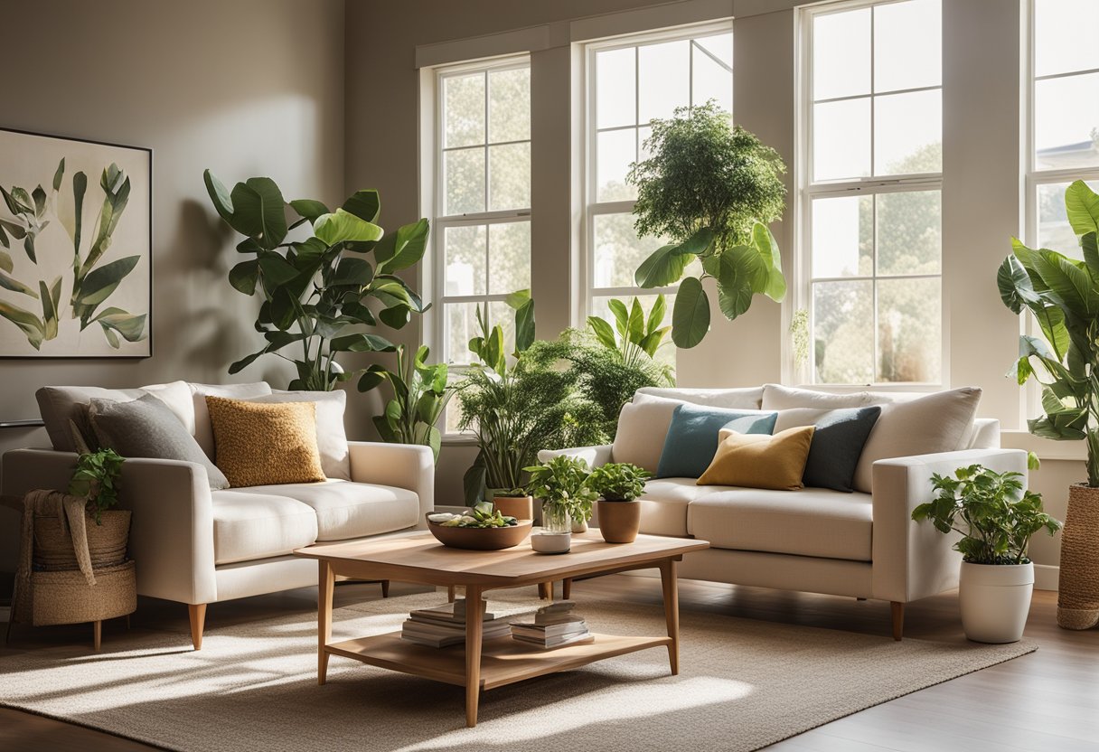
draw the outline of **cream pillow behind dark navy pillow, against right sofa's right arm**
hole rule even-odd
[[[855,468],[855,490],[870,493],[878,460],[966,449],[980,394],[977,387],[963,387],[881,405]]]

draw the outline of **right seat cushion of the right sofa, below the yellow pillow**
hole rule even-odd
[[[687,508],[687,531],[717,549],[870,561],[868,494],[726,488]]]

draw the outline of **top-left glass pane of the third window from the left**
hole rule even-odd
[[[813,99],[870,92],[870,9],[813,18]]]

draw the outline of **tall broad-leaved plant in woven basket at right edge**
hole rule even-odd
[[[1065,209],[1083,261],[1013,240],[997,281],[1003,303],[1030,311],[1041,331],[1019,339],[1009,373],[1020,385],[1041,384],[1045,414],[1028,421],[1031,433],[1087,442],[1088,480],[1068,489],[1057,623],[1090,629],[1099,624],[1099,196],[1077,180]]]

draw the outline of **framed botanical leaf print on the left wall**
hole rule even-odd
[[[153,354],[153,151],[0,129],[0,357]]]

